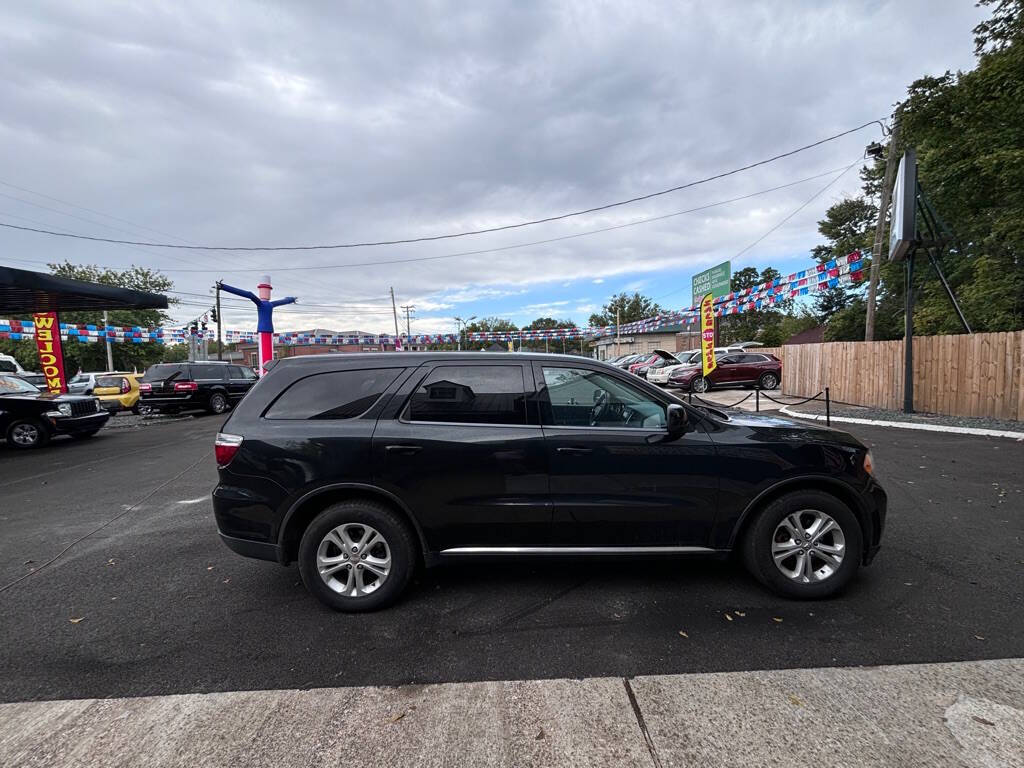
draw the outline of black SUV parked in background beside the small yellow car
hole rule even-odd
[[[233,362],[158,362],[138,380],[140,413],[209,411],[222,414],[256,383],[251,368]]]

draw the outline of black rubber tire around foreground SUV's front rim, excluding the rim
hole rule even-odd
[[[806,514],[807,511],[822,512],[831,517],[846,541],[842,562],[827,578],[799,582],[786,577],[775,565],[772,547],[776,528],[782,521],[790,515]],[[856,574],[863,555],[863,534],[857,516],[836,497],[820,490],[797,490],[779,497],[758,513],[740,543],[740,551],[748,570],[773,592],[798,600],[817,600],[837,594]],[[823,562],[812,558],[812,563]]]

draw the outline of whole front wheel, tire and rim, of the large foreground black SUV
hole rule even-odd
[[[758,581],[785,597],[836,594],[857,572],[863,537],[856,515],[820,490],[781,496],[761,511],[741,544]]]

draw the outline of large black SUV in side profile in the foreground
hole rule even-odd
[[[819,598],[870,562],[886,516],[849,434],[692,408],[582,357],[283,359],[221,429],[221,539],[297,560],[342,610],[473,556],[736,552],[782,595]]]

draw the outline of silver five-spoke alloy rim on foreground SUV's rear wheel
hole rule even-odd
[[[361,522],[345,522],[321,540],[316,548],[316,572],[328,589],[343,597],[370,595],[391,573],[391,548],[376,528]]]

